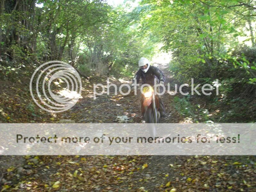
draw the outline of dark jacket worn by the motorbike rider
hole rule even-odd
[[[154,78],[156,78],[157,83],[159,83],[159,81],[165,81],[163,72],[151,65],[149,66],[147,73],[139,69],[134,76],[132,83],[134,83],[135,79],[137,80],[137,83],[139,83],[140,78],[142,79],[142,84],[150,84],[151,86],[154,85]]]

